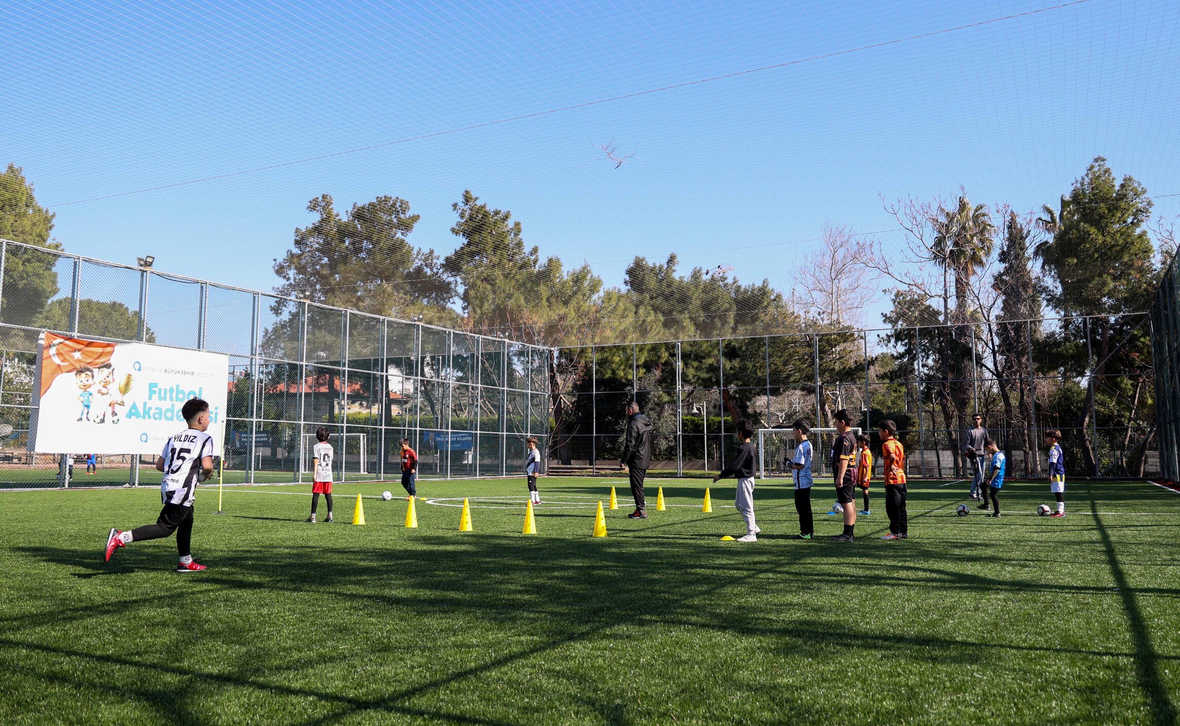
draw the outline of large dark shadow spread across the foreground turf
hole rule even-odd
[[[791,494],[789,490],[787,494]],[[948,503],[944,508],[951,506],[953,504]],[[710,519],[715,519],[715,515],[693,516],[689,521],[702,522]],[[920,520],[922,515],[911,517],[914,532],[920,532]],[[736,515],[732,522],[738,523]],[[0,633],[4,633],[0,646],[18,654],[28,653],[26,658],[7,659],[14,669],[32,678],[79,689],[97,686],[79,675],[79,669],[74,667],[58,667],[61,659],[80,659],[100,672],[112,667],[133,669],[135,678],[124,675],[118,679],[119,693],[150,706],[169,719],[181,721],[199,720],[204,715],[177,711],[185,707],[178,705],[179,701],[188,700],[184,698],[185,688],[196,688],[184,684],[188,679],[197,684],[283,695],[291,701],[316,699],[332,706],[332,713],[310,717],[309,724],[346,720],[352,714],[363,712],[458,724],[500,724],[503,721],[470,713],[420,708],[412,700],[424,694],[446,692],[459,681],[494,678],[503,668],[555,653],[571,644],[632,638],[635,627],[690,627],[742,636],[772,636],[773,647],[781,648],[785,653],[815,656],[831,653],[832,649],[868,648],[879,649],[891,658],[912,654],[918,660],[933,659],[951,665],[978,662],[985,653],[996,651],[1127,658],[1139,669],[1140,684],[1156,714],[1156,721],[1171,722],[1167,719],[1174,718],[1174,708],[1160,682],[1159,662],[1175,659],[1159,656],[1152,651],[1143,618],[1134,600],[1135,592],[1147,590],[1130,590],[1127,587],[1104,529],[1100,528],[1100,533],[1112,569],[1117,568],[1115,579],[1119,593],[1108,587],[1054,585],[1010,578],[999,580],[979,575],[977,570],[981,566],[1003,563],[1010,559],[990,555],[986,544],[974,542],[914,539],[907,541],[904,549],[897,547],[887,550],[879,547],[841,547],[824,541],[800,542],[799,547],[762,552],[753,546],[743,548],[742,559],[734,561],[732,543],[708,541],[720,534],[684,535],[666,532],[684,523],[686,520],[645,527],[641,524],[630,530],[628,536],[607,540],[529,540],[518,535],[493,534],[477,534],[464,539],[426,535],[417,537],[412,544],[337,543],[332,550],[310,544],[270,547],[264,553],[256,549],[230,549],[217,553],[208,561],[211,566],[208,573],[185,576],[188,581],[184,585],[173,586],[171,581],[164,580],[150,581],[149,586],[159,590],[151,595],[65,607],[35,615],[0,618]],[[686,542],[691,542],[693,547],[688,548]],[[172,547],[172,543],[169,542],[166,547]],[[158,548],[151,546],[145,547],[142,554],[135,548],[120,552],[118,556],[123,559],[111,565],[98,561],[90,549],[39,546],[22,547],[18,552],[44,562],[80,569],[80,573],[70,573],[78,578],[131,574],[149,562],[155,567],[159,561]],[[832,568],[830,563],[833,560],[839,560],[846,567]],[[964,572],[968,569],[971,572]],[[1133,653],[1121,653],[956,640],[937,635],[905,635],[866,628],[858,631],[844,622],[818,616],[794,619],[784,625],[781,619],[775,621],[759,616],[727,602],[728,595],[747,594],[742,587],[761,588],[767,582],[762,579],[773,576],[775,582],[782,582],[786,575],[789,575],[793,587],[817,590],[920,587],[981,594],[1008,590],[1112,599],[1117,596],[1128,612],[1135,647]],[[181,580],[177,576],[175,582]],[[26,627],[38,628],[39,633],[44,632],[41,628],[50,627],[52,633],[84,623],[88,619],[114,614],[122,615],[131,627],[146,627],[138,615],[139,609],[149,610],[168,605],[176,610],[196,612],[222,602],[227,593],[250,590],[266,592],[266,596],[276,602],[288,595],[313,593],[341,602],[355,601],[363,606],[367,618],[374,621],[404,618],[405,613],[413,612],[454,615],[476,623],[509,628],[520,622],[522,613],[527,613],[531,634],[538,642],[502,648],[494,656],[472,655],[463,667],[446,667],[444,672],[421,678],[419,682],[411,680],[406,686],[391,688],[378,697],[362,698],[328,688],[289,685],[290,679],[284,676],[287,671],[313,667],[299,649],[286,653],[287,658],[280,659],[282,662],[269,669],[242,656],[242,662],[231,664],[232,668],[227,673],[222,668],[184,667],[169,662],[169,659],[155,659],[153,662],[133,655],[112,654],[109,648],[92,653],[68,641],[46,644],[40,638],[21,633]],[[358,665],[349,660],[353,655],[324,655],[323,662],[314,667],[352,669]],[[178,680],[181,686],[159,688],[158,684],[151,682],[153,672]],[[592,672],[571,675],[571,689],[581,693],[601,692],[602,684],[595,682],[595,675]],[[578,679],[582,681],[578,682]],[[629,721],[628,705],[612,699],[584,705],[607,722]]]

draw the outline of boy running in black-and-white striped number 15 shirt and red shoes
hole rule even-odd
[[[119,547],[143,540],[158,540],[176,533],[176,548],[181,553],[178,573],[197,573],[205,569],[192,560],[189,546],[192,541],[192,499],[197,482],[205,481],[214,473],[214,440],[205,431],[209,429],[209,404],[201,398],[190,398],[181,415],[189,428],[172,436],[164,444],[164,450],[156,460],[156,470],[164,473],[159,484],[164,508],[155,524],[137,527],[130,532],[111,529],[106,535],[106,557]]]

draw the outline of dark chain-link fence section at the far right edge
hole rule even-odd
[[[1152,305],[1152,355],[1160,429],[1160,476],[1180,482],[1180,263],[1173,258]]]

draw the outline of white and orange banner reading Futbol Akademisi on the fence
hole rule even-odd
[[[42,332],[30,449],[48,454],[159,454],[185,429],[181,408],[209,402],[209,434],[225,438],[229,356],[148,343],[103,343]]]

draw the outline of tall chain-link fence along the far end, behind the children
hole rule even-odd
[[[970,476],[976,411],[1010,476],[1044,475],[1051,429],[1071,476],[1155,476],[1146,322],[1130,314],[560,349],[550,469],[617,468],[635,398],[655,424],[653,469],[677,475],[722,467],[739,418],[832,427],[847,409],[874,448],[876,424],[897,423],[910,476]]]

